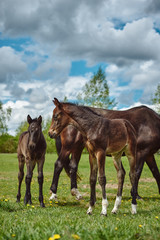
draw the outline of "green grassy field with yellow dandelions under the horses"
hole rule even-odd
[[[156,156],[160,169],[160,158]],[[32,206],[24,206],[25,181],[22,183],[21,203],[16,203],[18,161],[16,154],[0,154],[0,239],[53,240],[60,239],[160,239],[160,195],[151,172],[145,165],[139,183],[137,215],[131,214],[129,165],[123,164],[126,178],[123,201],[117,215],[111,210],[117,192],[117,177],[112,159],[106,160],[108,216],[100,216],[101,189],[97,183],[97,202],[91,216],[86,214],[89,204],[89,163],[84,154],[79,164],[82,180],[78,183],[83,200],[77,201],[70,194],[70,180],[63,171],[58,187],[58,201],[49,201],[49,188],[56,154],[47,154],[44,165],[44,199],[46,208],[38,202],[37,171],[31,185]],[[58,235],[56,235],[58,234]],[[57,237],[56,237],[57,236]]]

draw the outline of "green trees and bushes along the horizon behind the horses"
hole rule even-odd
[[[64,101],[68,101],[67,97],[64,98]],[[108,109],[113,109],[117,105],[115,98],[111,99],[110,97],[106,74],[101,67],[99,67],[97,72],[93,74],[90,81],[86,83],[77,94],[76,101],[79,104]],[[151,101],[155,104],[157,112],[160,113],[160,84],[157,87],[154,97],[151,98]],[[28,129],[28,123],[27,121],[24,121],[21,122],[19,127],[16,129],[15,136],[9,135],[6,122],[10,119],[11,114],[12,109],[7,108],[4,110],[3,104],[0,101],[0,153],[15,153],[17,151],[20,134]],[[55,140],[50,139],[48,136],[50,124],[50,118],[43,120],[42,130],[47,142],[47,153],[56,152]]]

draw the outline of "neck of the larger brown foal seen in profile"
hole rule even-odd
[[[90,111],[89,108],[87,110],[86,107],[66,105],[64,110],[70,117],[69,124],[76,127],[83,136],[87,136],[88,130],[94,127],[100,120],[98,115]]]

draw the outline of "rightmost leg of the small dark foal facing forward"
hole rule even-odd
[[[39,202],[41,207],[45,207],[43,202],[43,164],[45,161],[45,157],[43,156],[38,161],[38,183],[39,183]]]

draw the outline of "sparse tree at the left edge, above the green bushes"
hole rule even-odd
[[[7,133],[7,120],[10,119],[12,109],[8,107],[6,110],[3,109],[3,104],[0,101],[0,135]]]

